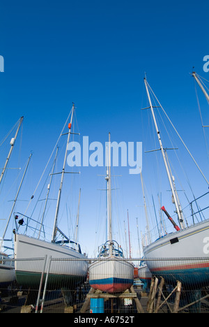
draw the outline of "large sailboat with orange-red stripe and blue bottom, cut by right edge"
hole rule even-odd
[[[169,163],[162,145],[153,104],[150,99],[150,87],[146,78],[144,78],[144,83],[149,101],[148,108],[150,108],[153,116],[157,138],[160,143],[160,152],[162,153],[164,166],[167,171],[179,224],[178,226],[175,221],[173,221],[163,206],[161,210],[164,212],[164,215],[169,218],[175,231],[173,230],[173,233],[164,235],[144,247],[144,260],[146,261],[150,273],[153,275],[162,276],[171,284],[176,284],[176,280],[179,280],[185,286],[199,289],[201,285],[209,285],[209,219],[203,220],[197,224],[192,224],[191,226],[185,226],[178,192],[176,191],[174,179],[169,170]]]

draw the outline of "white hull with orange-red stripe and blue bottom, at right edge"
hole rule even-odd
[[[153,275],[169,282],[178,279],[194,287],[209,285],[208,254],[209,219],[168,234],[144,248],[144,259]]]

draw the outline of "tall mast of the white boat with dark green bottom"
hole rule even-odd
[[[73,103],[72,104],[72,114],[71,114],[71,118],[70,118],[70,124],[68,124],[68,129],[69,129],[69,131],[68,131],[68,140],[67,140],[67,145],[66,145],[66,149],[65,149],[65,157],[64,157],[64,161],[63,161],[63,170],[61,172],[61,183],[60,183],[59,193],[58,193],[58,198],[57,198],[57,203],[56,203],[56,212],[55,212],[55,217],[54,217],[54,228],[53,228],[53,232],[52,232],[52,242],[55,242],[55,238],[56,238],[56,224],[57,224],[57,217],[58,217],[58,213],[59,213],[61,191],[62,191],[62,188],[63,188],[63,179],[64,179],[64,175],[65,175],[65,163],[66,163],[66,159],[67,159],[68,144],[70,142],[72,116],[74,114],[74,110],[75,110],[75,105]]]

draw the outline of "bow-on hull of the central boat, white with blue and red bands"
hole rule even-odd
[[[88,268],[89,284],[93,289],[109,293],[129,289],[134,282],[134,266],[116,256],[95,261]]]

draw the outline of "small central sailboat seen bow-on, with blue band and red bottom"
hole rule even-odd
[[[129,289],[134,281],[134,266],[125,260],[123,249],[112,239],[111,219],[111,146],[109,133],[108,164],[107,164],[107,218],[108,240],[100,246],[98,259],[88,268],[89,284],[93,289],[116,293]]]

